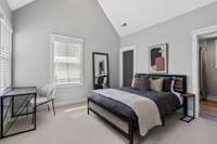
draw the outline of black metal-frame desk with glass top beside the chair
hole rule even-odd
[[[1,139],[36,130],[36,87],[12,88],[3,95],[0,95]],[[30,101],[35,102],[34,105],[29,105]],[[30,112],[29,106],[31,106]],[[31,126],[30,128],[8,133],[18,118],[25,119],[29,116],[31,116],[31,122],[29,122]]]

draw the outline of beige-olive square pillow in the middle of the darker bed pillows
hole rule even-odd
[[[150,88],[153,91],[162,92],[163,78],[158,78],[158,79],[150,78]]]

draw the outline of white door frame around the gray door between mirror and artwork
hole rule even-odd
[[[133,75],[136,73],[136,55],[137,55],[137,48],[136,45],[123,47],[119,50],[119,87],[123,87],[123,54],[127,51],[133,51]]]

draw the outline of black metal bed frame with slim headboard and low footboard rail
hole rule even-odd
[[[184,75],[157,75],[157,74],[149,74],[151,77],[176,77],[176,78],[181,78],[182,79],[182,92],[181,93],[187,93],[187,76]],[[108,119],[106,119],[105,117],[103,117],[102,115],[100,115],[97,110],[94,110],[92,107],[90,107],[90,102],[100,106],[101,108],[103,108],[104,110],[115,115],[116,117],[118,117],[119,119],[122,119],[123,121],[125,121],[126,123],[128,123],[128,133],[125,132],[124,130],[122,130],[120,128],[118,128],[117,126],[115,126],[113,122],[111,122]],[[108,109],[106,106],[104,106],[103,104],[100,104],[95,101],[92,101],[91,99],[88,99],[87,101],[87,113],[88,115],[90,114],[90,112],[92,112],[94,115],[97,115],[98,117],[100,117],[103,121],[105,121],[106,123],[108,123],[110,126],[112,126],[115,130],[117,130],[118,132],[120,132],[122,135],[124,135],[126,139],[129,140],[129,144],[133,144],[133,133],[135,131],[137,131],[137,129],[135,129],[135,123],[131,119],[127,118],[126,116]],[[183,107],[182,105],[178,108],[180,109],[181,107]],[[162,126],[165,126],[165,118],[162,117]]]

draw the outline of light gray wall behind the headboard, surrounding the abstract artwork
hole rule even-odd
[[[137,45],[137,70],[149,73],[148,48],[169,43],[168,71],[188,75],[188,90],[192,90],[191,31],[217,25],[217,3],[178,16],[159,25],[143,29],[120,39],[120,47]]]

